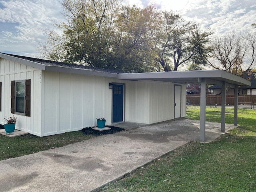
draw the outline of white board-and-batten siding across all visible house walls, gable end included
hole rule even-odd
[[[103,76],[44,71],[0,59],[2,112],[12,116],[12,80],[31,80],[31,116],[17,116],[16,129],[48,136],[96,126],[96,118],[112,123],[112,89],[108,83],[125,85],[124,120],[152,124],[174,119],[174,84],[128,81]],[[182,86],[181,116],[186,116],[186,85]]]

